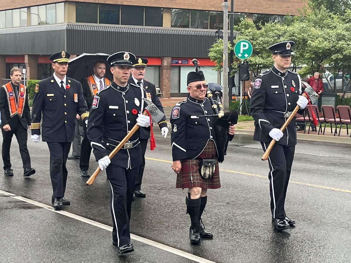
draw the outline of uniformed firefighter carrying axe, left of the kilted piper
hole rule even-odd
[[[134,251],[130,243],[130,217],[135,178],[143,160],[138,129],[110,160],[108,154],[131,131],[135,124],[150,126],[150,117],[142,115],[145,91],[128,84],[135,56],[118,52],[107,58],[112,65],[113,82],[100,90],[90,109],[87,137],[101,170],[106,168],[111,184],[112,244],[120,254]]]

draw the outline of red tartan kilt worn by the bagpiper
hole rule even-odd
[[[212,177],[204,179],[199,173],[199,165],[203,159],[216,159],[216,169]],[[196,159],[181,160],[181,170],[177,174],[176,188],[200,187],[201,189],[220,188],[219,168],[216,146],[208,140],[205,149]]]

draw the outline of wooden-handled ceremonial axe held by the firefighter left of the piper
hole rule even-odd
[[[147,104],[146,106],[146,110],[150,113],[152,119],[154,122],[159,123],[163,116],[165,116],[165,114],[163,112],[161,112],[161,110],[159,108],[156,107],[155,104],[153,104],[150,100],[143,98],[144,102]],[[149,116],[147,114],[146,111],[144,111],[143,115],[145,116]],[[152,123],[150,123],[150,125],[152,125]],[[128,133],[123,140],[116,146],[116,148],[113,149],[113,151],[111,151],[111,153],[108,155],[108,158],[111,160],[112,157],[124,146],[124,144],[130,139],[130,137],[132,137],[132,135],[135,133],[135,131],[137,131],[139,129],[139,125],[135,124],[134,127],[131,129],[130,133]],[[98,174],[100,173],[101,169],[100,167],[98,167],[95,172],[93,173],[93,175],[88,179],[88,181],[86,182],[86,184],[93,184],[93,182],[95,181],[95,178],[98,176]]]

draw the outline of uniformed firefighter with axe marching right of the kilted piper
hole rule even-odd
[[[272,139],[276,141],[269,155],[272,224],[275,229],[290,228],[295,221],[285,214],[284,203],[289,183],[296,141],[295,121],[284,132],[280,131],[296,105],[302,114],[308,100],[301,96],[299,74],[288,70],[291,63],[293,41],[284,41],[269,47],[274,66],[259,74],[251,95],[251,114],[255,120],[253,139],[260,141],[266,151]]]

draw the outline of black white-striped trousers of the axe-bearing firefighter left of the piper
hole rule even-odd
[[[118,247],[131,242],[129,222],[137,171],[138,167],[125,169],[114,164],[106,168],[107,180],[111,184],[112,240]]]

